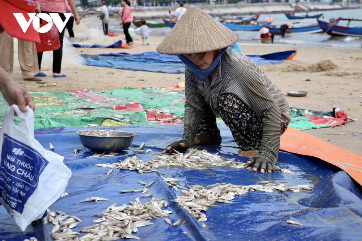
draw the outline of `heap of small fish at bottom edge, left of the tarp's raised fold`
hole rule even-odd
[[[98,223],[89,227],[81,228],[79,232],[85,232],[79,240],[117,240],[119,238],[140,239],[132,233],[138,232],[138,228],[151,225],[150,219],[167,217],[172,211],[162,209],[168,207],[164,199],[152,198],[150,202],[142,203],[139,198],[130,204],[117,206],[117,203],[109,206],[106,210],[94,215],[102,215],[102,218],[93,220]],[[181,220],[180,220],[181,223]]]

